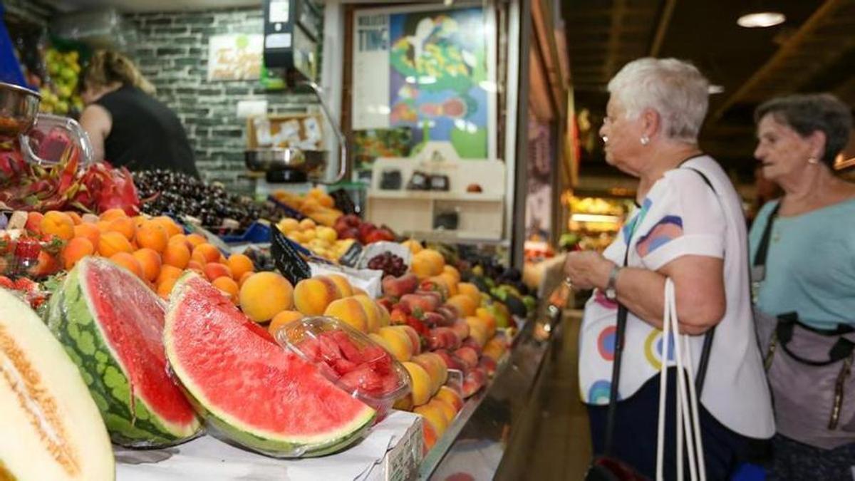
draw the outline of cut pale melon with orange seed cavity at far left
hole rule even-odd
[[[42,320],[0,289],[0,479],[114,479],[98,408]]]

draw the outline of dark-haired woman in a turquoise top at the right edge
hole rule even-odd
[[[841,329],[846,330],[846,324],[855,325],[855,185],[834,175],[833,165],[849,138],[852,112],[832,95],[805,94],[760,105],[755,120],[754,157],[762,164],[763,175],[784,192],[760,211],[749,236],[752,264],[764,264],[764,269],[755,267],[753,272],[758,330],[770,336],[775,318],[790,312],[810,328],[835,330],[844,324]],[[758,252],[764,244],[762,262],[764,256]],[[767,342],[760,346],[764,353],[773,344],[769,336],[760,336],[761,343]],[[784,355],[777,351],[769,350],[769,361]],[[780,369],[769,370],[778,425],[771,478],[851,479],[855,431],[846,431],[846,426],[831,431],[819,423],[805,430],[791,422],[828,418],[828,407],[816,402],[793,405],[789,402],[799,395],[781,389],[802,376],[811,386],[811,373],[816,372],[811,368],[798,365],[799,371],[788,380],[775,377],[781,376]]]

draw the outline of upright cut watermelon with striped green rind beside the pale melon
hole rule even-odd
[[[48,324],[80,368],[114,442],[159,447],[202,429],[169,376],[165,308],[131,271],[84,258],[50,300]]]

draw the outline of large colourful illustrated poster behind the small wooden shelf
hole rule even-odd
[[[413,152],[450,141],[490,157],[495,84],[484,9],[410,7],[354,15],[353,128],[412,129]]]

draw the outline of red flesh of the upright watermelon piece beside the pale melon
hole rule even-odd
[[[167,371],[162,341],[165,309],[156,294],[108,261],[90,259],[85,267],[81,282],[133,394],[169,423],[195,424],[196,413]]]

